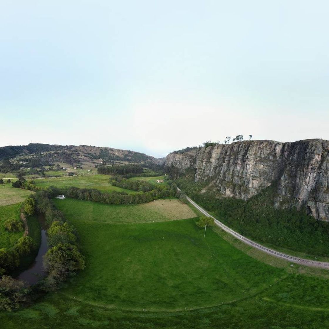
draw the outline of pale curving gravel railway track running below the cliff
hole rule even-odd
[[[178,188],[177,188],[178,189]],[[180,190],[180,189],[178,189]],[[216,219],[214,216],[208,214],[203,208],[201,208],[198,204],[196,204],[192,199],[190,199],[189,197],[187,197],[187,200],[202,214],[214,218],[215,224],[217,226],[219,226],[222,230],[224,230],[225,232],[231,234],[233,237],[239,239],[240,241],[256,248],[259,249],[261,251],[264,251],[266,254],[269,254],[271,256],[274,257],[278,257],[278,258],[282,258],[285,259],[288,262],[291,263],[296,263],[296,264],[300,264],[300,265],[305,265],[305,266],[313,266],[313,267],[321,267],[321,268],[326,268],[329,269],[329,263],[326,262],[317,262],[317,261],[312,261],[309,259],[304,259],[304,258],[299,258],[299,257],[295,257],[295,256],[290,256],[287,254],[284,254],[282,252],[264,247],[263,245],[254,242],[248,238],[245,238],[243,235],[239,234],[238,232],[230,229],[228,226],[226,226],[225,224],[223,224],[222,222],[220,222],[218,219]]]

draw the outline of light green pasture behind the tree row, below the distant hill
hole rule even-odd
[[[81,189],[97,189],[104,192],[127,192],[135,193],[131,190],[121,189],[116,186],[111,186],[109,183],[109,176],[98,174],[82,174],[70,177],[52,177],[52,178],[39,178],[34,180],[34,184],[38,187],[70,187],[75,186]]]

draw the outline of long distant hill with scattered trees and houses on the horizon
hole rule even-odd
[[[30,143],[28,145],[14,145],[0,147],[0,160],[17,157],[38,156],[47,162],[79,163],[138,163],[164,164],[165,158],[156,159],[144,153],[130,150],[120,150],[111,147],[97,147],[90,145],[50,145]]]

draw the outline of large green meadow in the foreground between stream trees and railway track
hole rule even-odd
[[[329,280],[291,273],[283,260],[266,265],[220,230],[204,238],[195,219],[171,215],[153,223],[141,205],[55,202],[77,228],[87,267],[32,307],[1,312],[6,329],[329,327]]]

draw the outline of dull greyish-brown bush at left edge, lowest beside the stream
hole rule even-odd
[[[0,279],[0,310],[11,312],[18,309],[26,301],[28,292],[23,281],[4,275]]]

